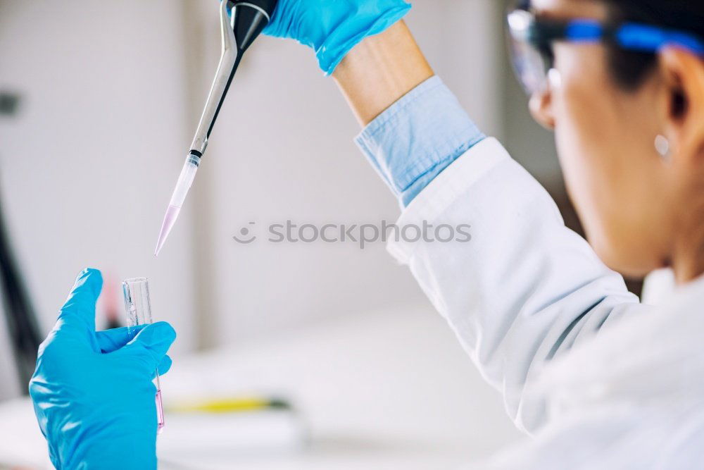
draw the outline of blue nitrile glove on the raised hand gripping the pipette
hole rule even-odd
[[[362,39],[383,32],[408,10],[403,0],[279,0],[264,34],[312,47],[329,75]]]

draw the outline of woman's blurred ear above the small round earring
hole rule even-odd
[[[667,92],[666,135],[674,159],[704,161],[704,61],[690,51],[667,47],[660,52]]]

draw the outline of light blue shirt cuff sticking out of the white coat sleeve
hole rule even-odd
[[[485,137],[443,81],[432,77],[372,120],[355,142],[406,207]]]

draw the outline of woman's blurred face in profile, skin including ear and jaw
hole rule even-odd
[[[597,0],[532,4],[546,18],[608,18]],[[557,73],[530,107],[539,123],[555,130],[570,197],[591,245],[630,276],[670,265],[677,244],[702,242],[682,237],[703,229],[704,81],[698,80],[704,66],[692,54],[667,50],[645,82],[628,90],[612,76],[603,44],[558,42],[553,52]],[[658,135],[670,142],[667,158],[656,150]]]

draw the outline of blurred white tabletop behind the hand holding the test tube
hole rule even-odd
[[[330,319],[176,357],[162,390],[167,406],[263,392],[297,410],[167,414],[164,469],[453,469],[520,438],[498,393],[429,307]],[[28,400],[0,404],[0,436],[0,469],[46,468]]]

